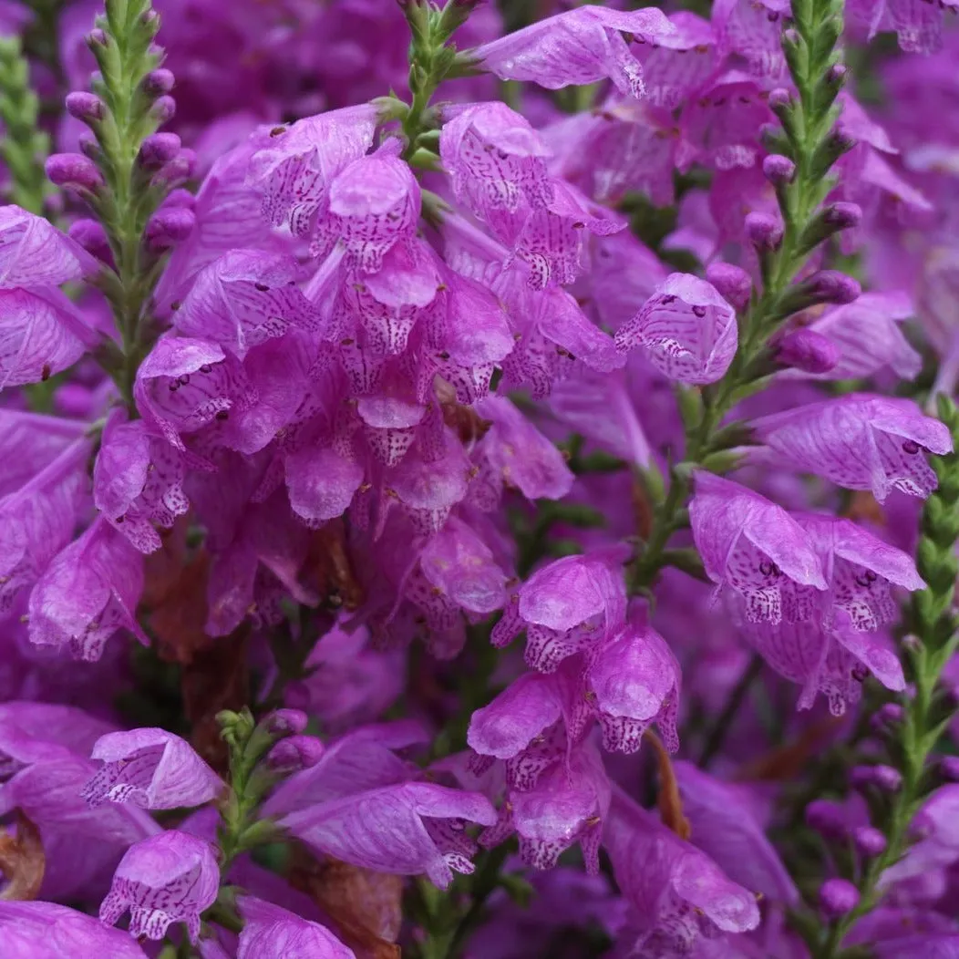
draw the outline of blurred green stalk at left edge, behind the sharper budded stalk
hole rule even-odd
[[[20,40],[0,37],[0,158],[10,174],[7,196],[17,206],[43,216],[50,184],[43,161],[50,138],[38,127],[40,104],[30,86],[30,66]]]

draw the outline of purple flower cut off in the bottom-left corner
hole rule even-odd
[[[7,959],[146,959],[129,934],[55,902],[0,901],[0,939]]]

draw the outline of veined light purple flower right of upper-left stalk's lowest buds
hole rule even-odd
[[[316,331],[319,316],[296,286],[292,257],[233,249],[200,270],[174,314],[186,337],[212,339],[239,359],[290,327]]]

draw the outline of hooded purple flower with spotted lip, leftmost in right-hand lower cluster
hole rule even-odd
[[[710,579],[742,596],[751,622],[807,619],[810,592],[827,588],[802,526],[738,483],[697,472],[690,524]]]

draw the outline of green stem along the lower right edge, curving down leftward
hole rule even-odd
[[[939,418],[952,433],[954,450],[959,450],[959,410],[945,396],[939,398]],[[909,825],[931,791],[933,782],[926,761],[946,731],[954,711],[953,703],[937,695],[943,669],[959,646],[959,622],[952,609],[959,560],[959,453],[932,460],[939,487],[925,503],[922,538],[917,566],[928,584],[914,594],[906,611],[906,675],[914,687],[903,698],[904,716],[898,735],[890,742],[890,759],[902,775],[900,790],[893,798],[881,829],[886,848],[863,871],[857,882],[859,902],[854,910],[830,924],[819,943],[810,943],[815,959],[851,959],[853,950],[842,946],[856,920],[876,908],[882,892],[879,877],[906,852]]]

